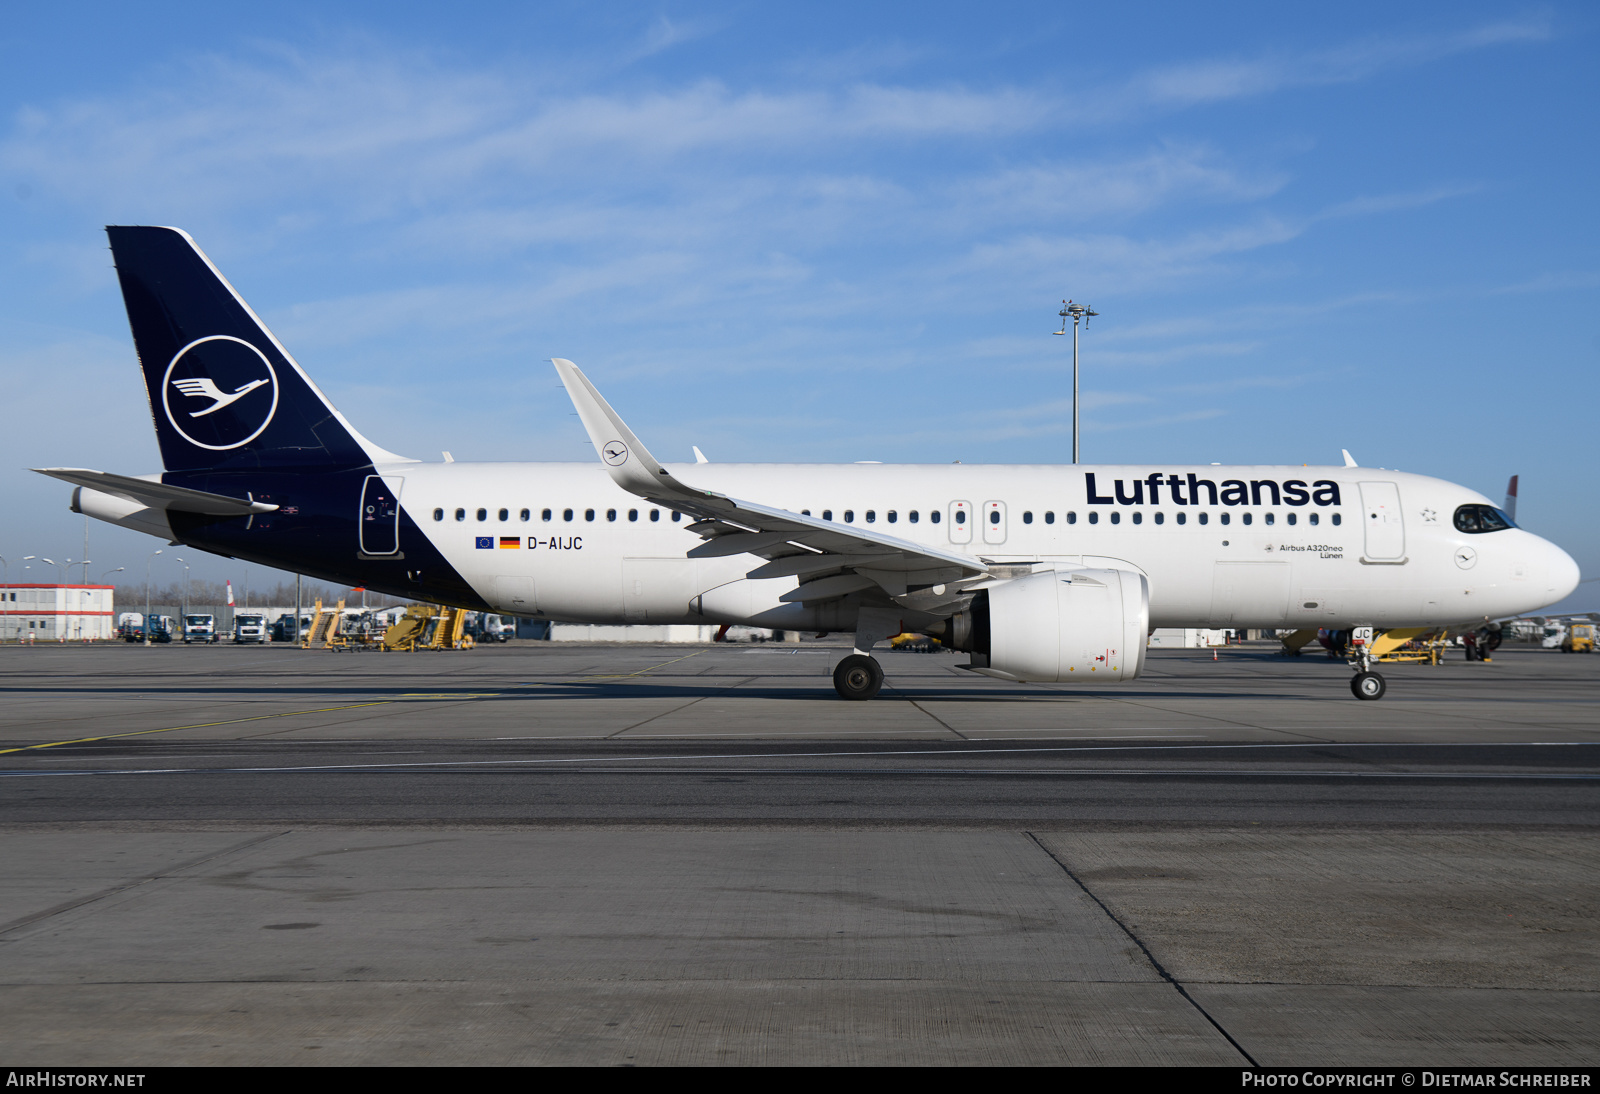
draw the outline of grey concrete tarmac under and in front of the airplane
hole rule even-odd
[[[1600,659],[0,648],[22,1065],[1600,1057]]]

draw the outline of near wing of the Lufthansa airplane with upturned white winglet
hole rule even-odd
[[[552,363],[613,481],[630,494],[696,518],[690,531],[706,542],[690,550],[690,558],[765,558],[768,561],[749,577],[798,577],[800,587],[782,597],[787,601],[830,600],[875,589],[888,597],[906,597],[989,573],[982,561],[955,552],[696,489],[656,462],[576,365],[562,358]]]

